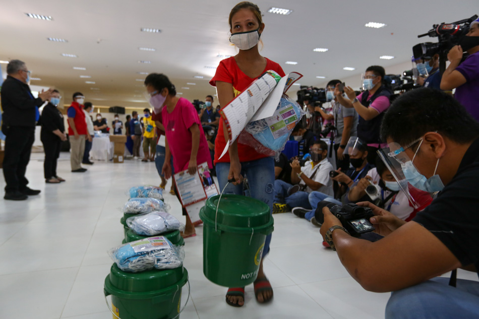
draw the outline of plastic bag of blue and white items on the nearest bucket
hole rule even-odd
[[[163,236],[132,241],[111,248],[108,254],[119,269],[130,273],[181,267],[185,259],[184,248]]]

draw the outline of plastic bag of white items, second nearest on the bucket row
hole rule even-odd
[[[172,230],[185,230],[185,225],[165,212],[151,212],[130,217],[127,219],[127,225],[142,236],[155,236]]]

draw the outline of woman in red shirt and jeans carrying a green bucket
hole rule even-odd
[[[229,14],[230,42],[235,44],[239,52],[233,57],[222,60],[216,69],[216,74],[210,81],[216,87],[219,104],[226,106],[239,93],[244,91],[260,75],[268,70],[277,72],[284,77],[284,72],[278,63],[260,55],[258,42],[264,30],[261,11],[258,6],[250,2],[237,4]],[[273,207],[274,159],[256,152],[246,144],[231,144],[228,153],[221,159],[219,156],[226,146],[228,133],[223,118],[219,122],[218,136],[215,141],[216,174],[220,190],[229,179],[230,183],[224,194],[243,195],[243,176],[248,177],[250,194],[255,199],[265,202],[270,209]],[[258,277],[254,282],[255,296],[258,302],[271,300],[273,290],[263,272],[263,259],[269,252],[271,235],[266,237],[263,248]],[[245,287],[229,288],[226,293],[226,302],[232,306],[243,306],[245,302]]]

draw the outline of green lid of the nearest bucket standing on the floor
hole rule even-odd
[[[182,280],[184,268],[165,270],[147,270],[140,273],[128,273],[120,270],[116,264],[110,269],[111,286],[125,292],[149,292],[168,288]]]

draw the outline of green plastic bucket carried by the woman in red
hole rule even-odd
[[[200,210],[203,221],[203,273],[224,287],[243,287],[255,281],[266,235],[273,217],[265,203],[250,197],[219,195]]]

